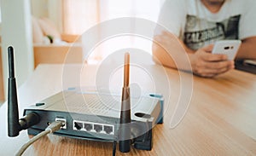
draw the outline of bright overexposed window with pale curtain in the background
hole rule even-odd
[[[156,21],[163,0],[63,0],[63,32],[83,34],[105,20],[137,17]],[[96,47],[93,58],[101,60],[121,48],[139,48],[151,53],[151,41],[134,36],[110,38]],[[102,52],[104,49],[104,52]]]

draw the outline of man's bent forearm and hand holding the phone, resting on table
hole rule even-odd
[[[212,45],[193,51],[168,32],[154,38],[153,55],[164,66],[193,72],[201,77],[212,78],[234,68],[234,61],[226,55],[212,55]],[[191,71],[192,70],[192,71]]]

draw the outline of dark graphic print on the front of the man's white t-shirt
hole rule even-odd
[[[188,14],[183,42],[190,49],[200,49],[220,39],[237,39],[240,16],[236,15],[227,20],[212,22]]]

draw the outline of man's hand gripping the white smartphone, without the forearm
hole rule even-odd
[[[234,61],[228,61],[226,55],[211,54],[213,45],[198,49],[189,54],[193,72],[201,77],[212,78],[233,69]]]

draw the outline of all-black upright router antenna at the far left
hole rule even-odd
[[[19,110],[17,101],[17,89],[15,80],[14,49],[8,48],[9,54],[9,85],[8,85],[8,136],[19,136]]]

